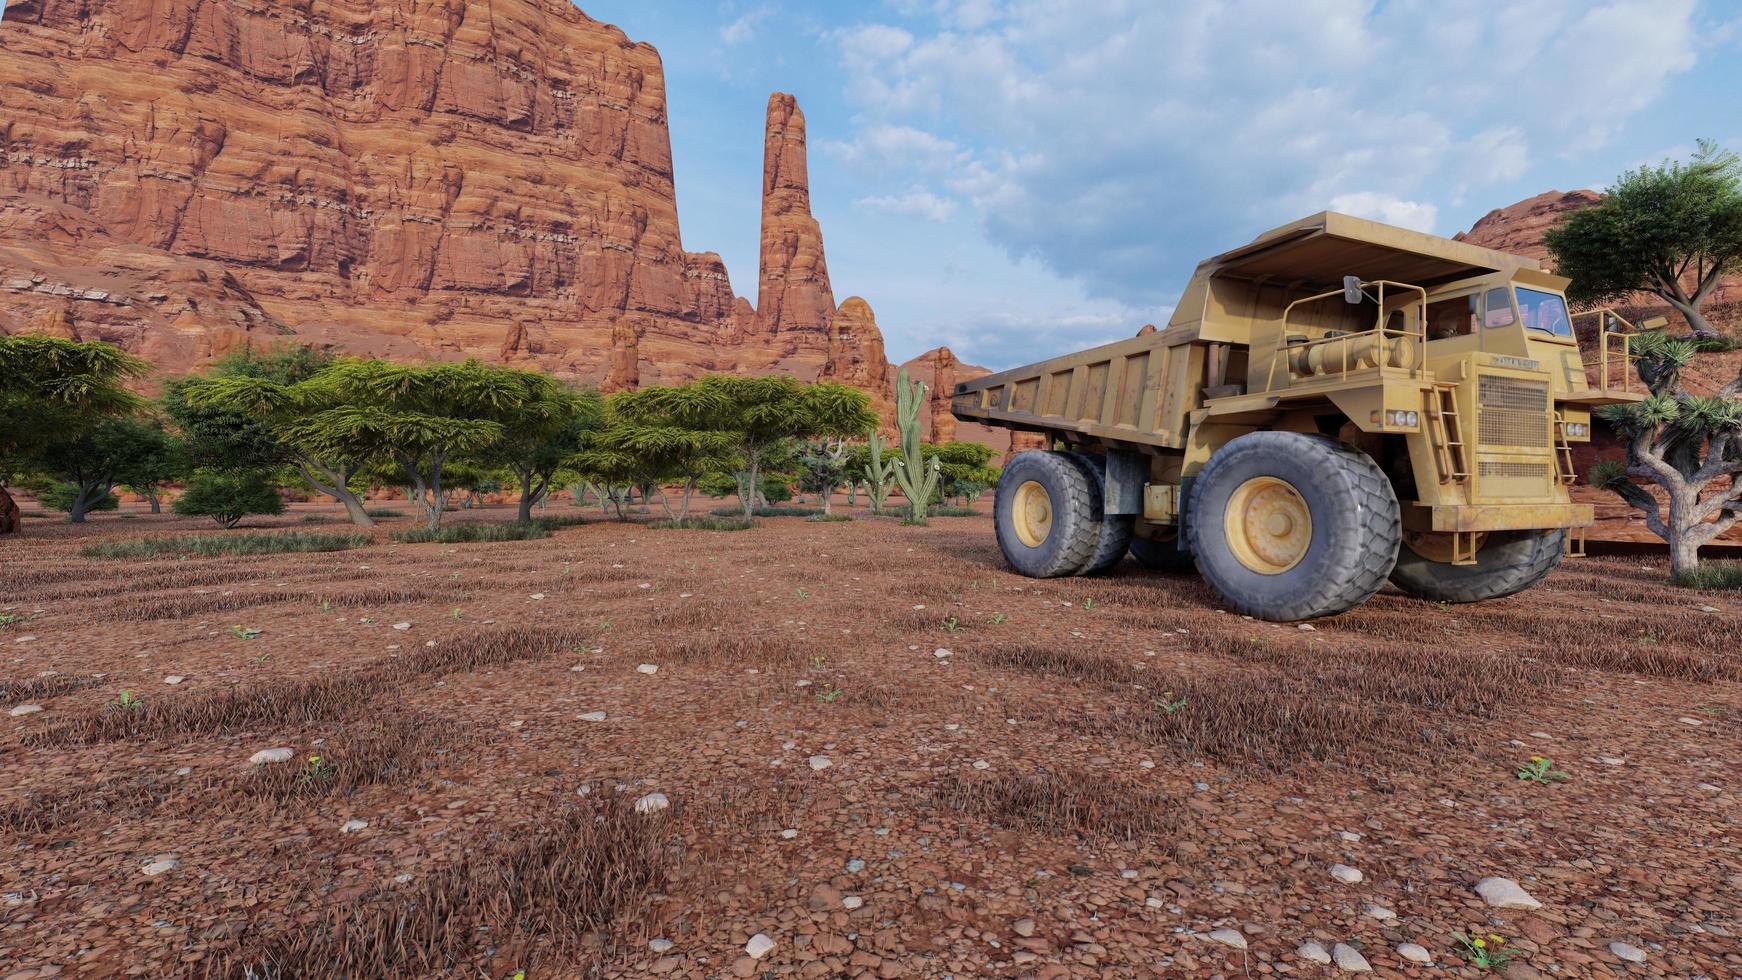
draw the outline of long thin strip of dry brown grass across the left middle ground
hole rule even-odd
[[[542,660],[575,648],[587,634],[510,627],[388,658],[348,674],[272,681],[195,698],[153,698],[138,708],[110,705],[56,728],[33,731],[28,745],[91,745],[118,738],[214,735],[247,726],[310,724],[362,715],[381,693],[415,677]]]

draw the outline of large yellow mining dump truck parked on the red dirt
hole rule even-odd
[[[1165,331],[956,385],[951,407],[1050,437],[998,480],[1024,574],[1195,562],[1266,620],[1341,613],[1387,578],[1510,595],[1578,554],[1570,444],[1590,409],[1643,397],[1608,310],[1589,383],[1566,284],[1322,212],[1198,265]]]

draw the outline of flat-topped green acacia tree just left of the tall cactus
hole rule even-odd
[[[878,423],[871,399],[833,381],[709,374],[690,385],[660,388],[648,407],[692,430],[732,432],[742,460],[739,496],[754,517],[763,461],[794,439],[848,437]]]

